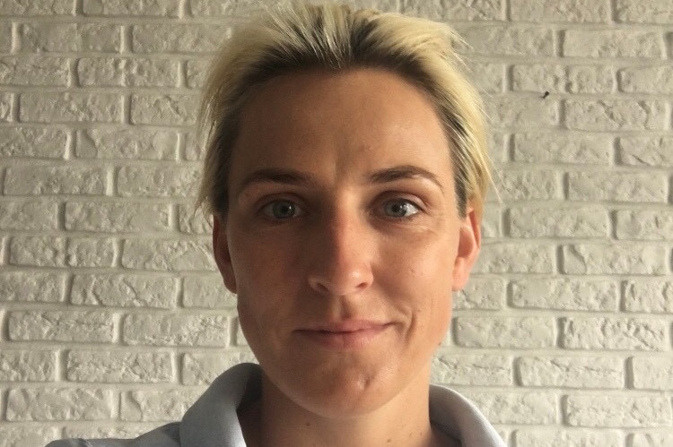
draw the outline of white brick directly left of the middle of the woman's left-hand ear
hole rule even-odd
[[[121,264],[149,271],[214,271],[210,240],[127,239]]]

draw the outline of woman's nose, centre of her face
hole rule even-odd
[[[319,224],[310,256],[310,287],[321,295],[346,297],[371,286],[371,231],[357,216],[333,215]]]

